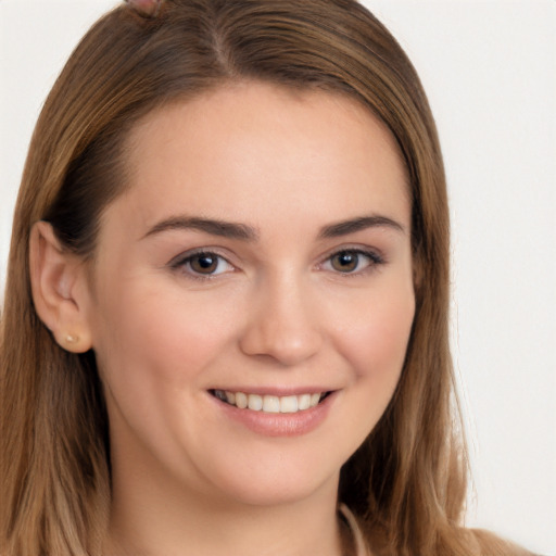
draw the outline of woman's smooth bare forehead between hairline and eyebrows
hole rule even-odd
[[[268,220],[264,203],[283,204],[292,216],[307,203],[339,212],[403,204],[408,213],[394,138],[370,110],[336,93],[222,87],[148,114],[127,153],[122,202],[150,223],[178,210],[250,222],[261,212]]]

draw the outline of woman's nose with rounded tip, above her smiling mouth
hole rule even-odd
[[[298,281],[268,280],[251,304],[240,339],[241,351],[268,357],[283,366],[309,359],[321,346],[321,323],[312,296]]]

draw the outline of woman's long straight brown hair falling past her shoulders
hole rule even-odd
[[[126,187],[134,124],[156,106],[250,79],[356,99],[386,123],[409,176],[412,338],[394,397],[342,469],[340,501],[377,554],[509,549],[462,527],[467,458],[448,351],[446,188],[413,65],[354,0],[167,0],[155,17],[121,7],[91,28],[33,137],[0,330],[0,552],[98,554],[110,505],[108,418],[94,354],[62,350],[34,309],[33,224],[50,222],[66,249],[91,258],[102,212]]]

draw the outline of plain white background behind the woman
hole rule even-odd
[[[0,0],[0,286],[41,103],[114,0]],[[468,525],[556,554],[556,2],[367,0],[416,65],[443,144]]]

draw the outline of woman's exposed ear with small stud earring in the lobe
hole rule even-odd
[[[35,308],[59,345],[73,353],[90,350],[85,264],[62,247],[46,222],[36,223],[31,229],[29,271]]]

